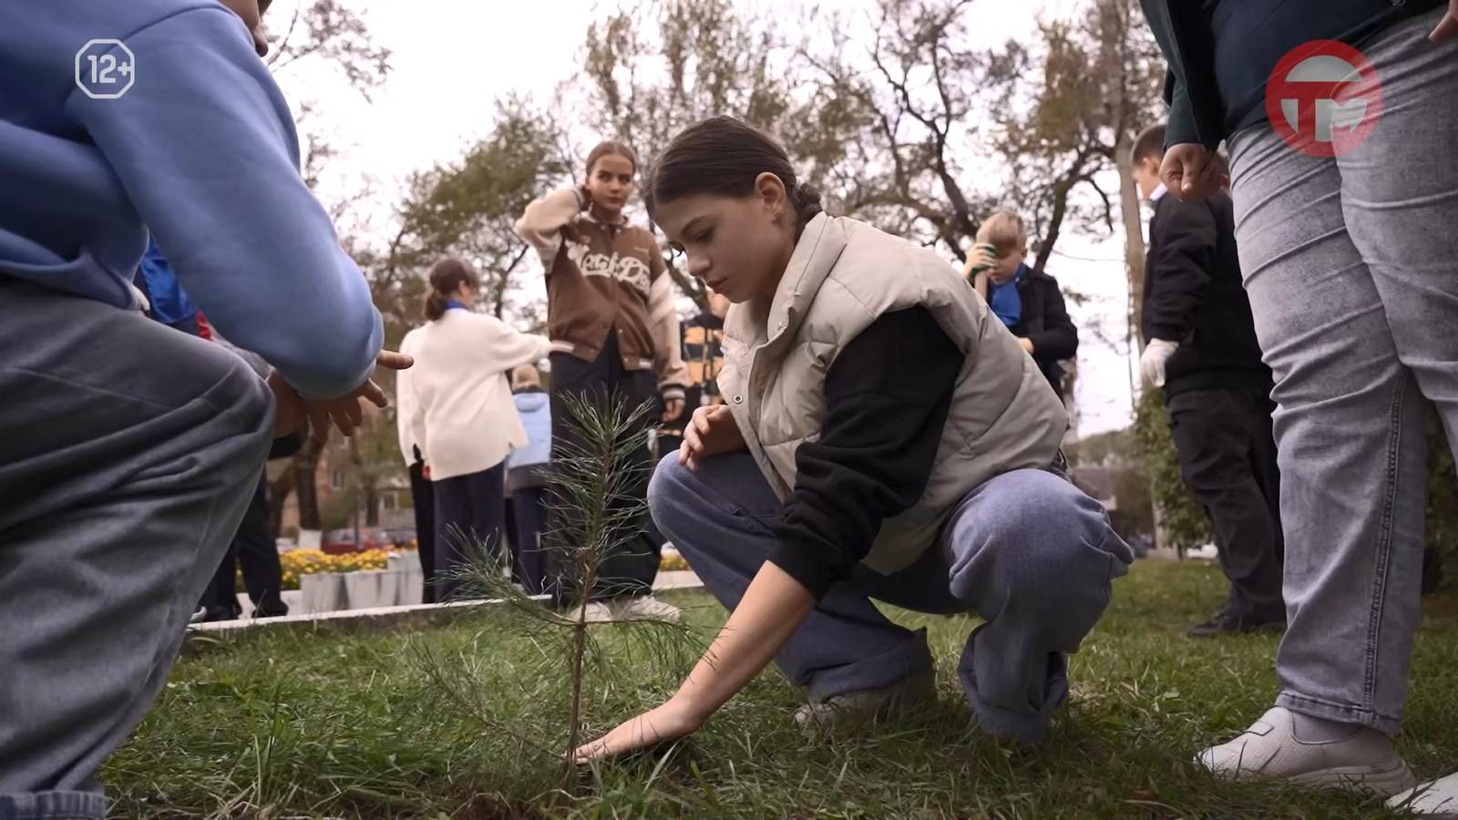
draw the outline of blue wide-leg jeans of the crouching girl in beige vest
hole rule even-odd
[[[719,601],[733,608],[779,543],[783,505],[746,454],[697,471],[663,458],[649,484],[653,519]],[[1133,554],[1104,508],[1047,470],[997,476],[962,499],[917,563],[879,575],[856,565],[800,624],[776,662],[811,700],[881,689],[932,668],[924,630],[897,626],[870,601],[954,614],[975,611],[958,677],[978,724],[1038,740],[1064,699],[1067,652],[1094,629],[1110,579]]]

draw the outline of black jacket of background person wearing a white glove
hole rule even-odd
[[[1165,194],[1155,203],[1142,312],[1146,343],[1180,343],[1165,365],[1166,398],[1187,390],[1271,388],[1241,285],[1229,196],[1184,203]]]

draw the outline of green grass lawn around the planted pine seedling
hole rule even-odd
[[[117,816],[163,819],[1397,816],[1379,800],[1191,770],[1197,749],[1276,693],[1276,638],[1184,636],[1222,587],[1194,562],[1145,560],[1118,581],[1038,747],[968,730],[955,662],[974,619],[897,613],[930,629],[940,702],[929,713],[811,743],[790,719],[799,692],[771,671],[675,753],[585,772],[569,794],[548,751],[566,737],[561,641],[496,613],[194,645],[104,779]],[[671,693],[723,622],[704,594],[668,597],[690,608],[691,645],[630,651],[608,629],[615,670],[589,681],[589,731]],[[1423,778],[1458,767],[1458,600],[1429,598],[1424,616],[1400,741]]]

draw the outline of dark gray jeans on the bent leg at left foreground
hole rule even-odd
[[[0,277],[0,819],[105,816],[258,483],[273,397],[242,359]]]

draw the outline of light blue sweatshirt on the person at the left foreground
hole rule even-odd
[[[96,38],[134,57],[79,58]],[[133,85],[92,99],[76,74],[108,53]],[[0,277],[130,308],[149,228],[208,321],[302,394],[369,375],[379,314],[243,22],[216,0],[4,0]]]

